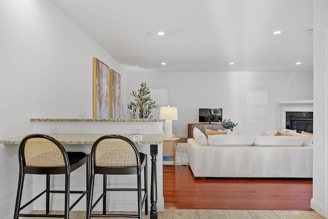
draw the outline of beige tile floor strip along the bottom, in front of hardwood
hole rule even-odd
[[[43,213],[34,211],[34,213]],[[60,214],[63,212],[52,212]],[[127,213],[127,212],[120,212]],[[131,212],[130,212],[131,213]],[[132,212],[133,213],[133,212]],[[86,217],[84,211],[72,211],[70,219],[81,219]],[[43,218],[43,217],[29,217]],[[97,217],[106,218],[106,217]],[[108,217],[107,217],[108,218]],[[122,218],[122,217],[120,217]],[[125,217],[124,217],[125,218]],[[149,214],[144,215],[144,218],[150,218]],[[163,212],[158,212],[158,218],[165,219],[247,219],[247,218],[273,218],[273,219],[314,219],[324,218],[316,211],[263,211],[263,210],[186,210],[186,209],[165,209]]]

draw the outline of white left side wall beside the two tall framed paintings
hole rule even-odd
[[[120,65],[50,1],[0,1],[0,27],[1,139],[30,133],[33,117],[91,118],[92,57],[125,89]],[[17,149],[0,148],[0,218],[14,211]]]

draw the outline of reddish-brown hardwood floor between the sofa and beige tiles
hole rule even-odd
[[[206,178],[163,166],[165,209],[312,210],[312,180]]]

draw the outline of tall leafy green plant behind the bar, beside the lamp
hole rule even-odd
[[[149,88],[146,82],[140,84],[140,89],[132,91],[130,94],[134,97],[134,102],[128,104],[128,108],[131,110],[131,118],[151,118],[152,109],[158,107],[155,105],[155,101],[150,96]]]

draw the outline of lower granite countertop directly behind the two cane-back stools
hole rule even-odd
[[[63,145],[92,145],[97,138],[105,134],[47,134],[54,137]],[[159,145],[162,143],[161,134],[142,134],[142,140],[133,140],[133,134],[121,134],[128,137],[134,144]],[[0,144],[20,144],[26,135],[0,140]]]

